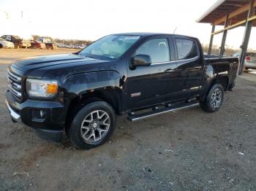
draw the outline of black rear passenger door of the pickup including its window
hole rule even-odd
[[[175,36],[178,86],[182,98],[193,98],[200,88],[203,76],[203,58],[195,39]]]

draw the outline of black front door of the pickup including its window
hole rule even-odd
[[[140,44],[132,55],[150,55],[151,66],[128,69],[128,109],[175,100],[176,61],[174,61],[173,40],[169,36],[151,38]]]

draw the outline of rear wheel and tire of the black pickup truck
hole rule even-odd
[[[204,101],[200,101],[201,108],[206,112],[217,112],[222,106],[224,90],[221,84],[211,87]]]

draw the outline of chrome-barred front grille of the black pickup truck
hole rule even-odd
[[[19,77],[17,74],[13,74],[9,69],[8,69],[7,84],[12,94],[15,95],[15,97],[21,99],[22,98],[21,77]]]

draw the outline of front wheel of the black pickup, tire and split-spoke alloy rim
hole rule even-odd
[[[116,113],[105,101],[87,104],[75,114],[68,130],[78,149],[91,149],[108,141],[116,128]]]

